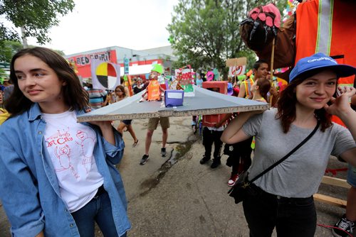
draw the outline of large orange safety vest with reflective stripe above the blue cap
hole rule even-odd
[[[310,0],[298,4],[295,63],[325,53],[338,63],[356,67],[356,1]],[[355,76],[340,78],[352,86]]]

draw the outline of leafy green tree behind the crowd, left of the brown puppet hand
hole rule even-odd
[[[216,67],[226,75],[226,60],[244,56],[251,68],[256,56],[244,45],[239,23],[253,7],[267,2],[270,1],[179,0],[172,23],[167,26],[179,58],[175,66]]]

